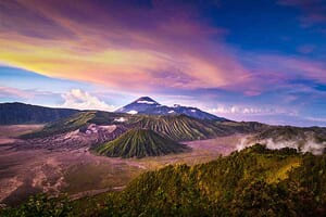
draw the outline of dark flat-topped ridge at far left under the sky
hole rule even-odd
[[[43,124],[68,117],[79,111],[24,103],[0,103],[0,125]]]

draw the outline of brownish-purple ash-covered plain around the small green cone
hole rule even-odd
[[[127,130],[118,125],[90,125],[84,130],[41,139],[17,139],[20,135],[41,127],[0,126],[3,141],[0,144],[0,203],[17,204],[38,192],[68,193],[77,199],[122,190],[146,170],[168,164],[193,165],[229,154],[242,138],[241,135],[236,135],[185,142],[192,148],[191,152],[123,159],[98,156],[89,151],[90,146],[113,140]]]

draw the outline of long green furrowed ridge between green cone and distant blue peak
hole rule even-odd
[[[146,128],[174,141],[212,139],[233,133],[250,133],[266,129],[260,123],[235,123],[198,119],[187,115],[145,115],[85,111],[45,126],[40,131],[22,136],[25,139],[45,138],[53,135],[83,130],[89,125],[117,125],[126,129]]]

